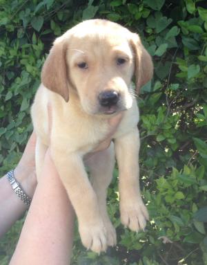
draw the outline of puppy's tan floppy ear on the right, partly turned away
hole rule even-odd
[[[152,58],[141,44],[139,36],[132,33],[131,38],[132,49],[135,53],[135,77],[136,77],[136,91],[137,93],[144,86],[153,75]]]

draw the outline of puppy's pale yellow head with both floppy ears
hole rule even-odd
[[[68,102],[79,97],[91,115],[110,115],[132,106],[136,90],[152,78],[152,60],[139,36],[110,21],[84,21],[55,40],[41,80]]]

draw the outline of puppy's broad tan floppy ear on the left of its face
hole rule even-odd
[[[66,102],[69,100],[68,66],[66,63],[67,44],[57,39],[43,65],[41,82],[47,89],[59,93]]]

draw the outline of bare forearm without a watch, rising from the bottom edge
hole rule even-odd
[[[42,176],[11,264],[70,264],[74,212],[46,155]]]

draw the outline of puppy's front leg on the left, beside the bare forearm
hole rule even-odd
[[[81,156],[67,155],[66,150],[53,149],[52,158],[77,214],[83,246],[97,253],[105,251],[106,228],[99,212],[97,196],[90,185]]]

